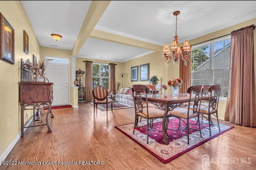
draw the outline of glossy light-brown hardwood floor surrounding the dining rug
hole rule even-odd
[[[256,128],[220,121],[235,128],[163,164],[115,128],[117,125],[134,122],[134,108],[110,110],[108,115],[106,111],[98,109],[94,114],[92,105],[79,103],[78,109],[52,111],[55,116],[50,120],[52,132],[47,133],[46,126],[28,128],[24,132],[24,137],[18,140],[6,158],[6,161],[35,162],[35,164],[39,162],[40,165],[2,165],[0,170],[240,170],[256,167]],[[204,154],[210,157],[209,167],[202,166]],[[61,161],[62,164],[81,161],[80,164],[85,165],[42,165],[56,161]]]

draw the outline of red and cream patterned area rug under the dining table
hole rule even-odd
[[[192,124],[195,124],[196,121],[190,120]],[[162,130],[162,119],[157,119],[153,124],[154,129]],[[179,121],[177,118],[171,117],[168,128],[177,129]],[[139,122],[138,125],[145,126],[146,122]],[[191,125],[193,128],[198,129],[198,125]],[[206,127],[206,126],[205,126]],[[187,144],[187,136],[186,130],[167,130],[168,133],[168,141],[170,144],[163,144],[163,135],[162,132],[155,132],[151,134],[148,138],[149,144],[147,144],[147,136],[145,128],[136,128],[133,134],[134,123],[130,123],[127,125],[116,126],[118,130],[126,134],[126,136],[130,137],[132,140],[140,144],[144,149],[146,149],[150,154],[158,158],[164,164],[178,158],[182,154],[200,146],[201,144],[219,136],[220,134],[234,128],[228,125],[220,124],[219,132],[218,125],[214,125],[211,128],[212,137],[210,137],[209,130],[201,126],[202,138],[200,137],[200,132],[197,130],[190,130],[190,144]]]

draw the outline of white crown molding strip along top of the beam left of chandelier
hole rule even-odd
[[[94,29],[104,31],[104,32],[108,32],[108,33],[111,33],[111,34],[116,34],[116,35],[122,36],[122,37],[132,38],[134,40],[140,40],[142,42],[152,43],[152,44],[156,44],[156,45],[163,45],[163,43],[161,43],[161,42],[157,42],[157,41],[154,41],[154,40],[149,40],[149,39],[142,38],[142,37],[139,37],[139,36],[134,36],[132,34],[127,34],[127,33],[117,31],[117,30],[113,30],[113,29],[110,29],[110,28],[106,28],[106,27],[103,27],[103,26],[96,25],[94,27]]]

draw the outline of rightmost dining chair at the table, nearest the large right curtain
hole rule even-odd
[[[220,85],[211,85],[208,88],[208,92],[210,93],[209,96],[209,103],[205,103],[205,105],[201,105],[200,109],[199,109],[199,113],[202,115],[202,126],[204,126],[204,124],[207,123],[203,123],[203,118],[206,118],[208,120],[208,125],[209,125],[209,132],[210,132],[210,136],[212,136],[211,134],[211,115],[214,115],[217,119],[217,123],[218,123],[218,127],[219,127],[219,131],[220,131],[220,124],[219,124],[219,119],[218,119],[218,103],[219,103],[219,98],[220,98],[220,91],[221,91],[221,87]],[[207,127],[205,127],[207,128]]]

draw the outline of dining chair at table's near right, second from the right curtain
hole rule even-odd
[[[179,119],[179,127],[178,129],[171,129],[171,130],[187,130],[187,138],[188,138],[188,144],[189,144],[189,130],[198,130],[195,128],[191,128],[189,126],[189,120],[197,118],[199,120],[199,109],[200,109],[200,104],[201,104],[201,99],[202,99],[202,92],[203,92],[203,85],[192,85],[188,87],[187,93],[190,94],[189,97],[189,102],[188,102],[188,107],[176,107],[172,111],[169,111],[171,117],[176,117]],[[195,94],[194,94],[195,93]],[[190,106],[192,106],[192,110],[190,109]],[[181,123],[184,123],[186,126],[184,127]],[[201,127],[200,127],[200,121],[197,121],[196,124],[193,125],[198,125],[199,131],[200,131],[200,136],[202,138],[202,133],[201,133]],[[180,127],[184,128],[180,128]]]

